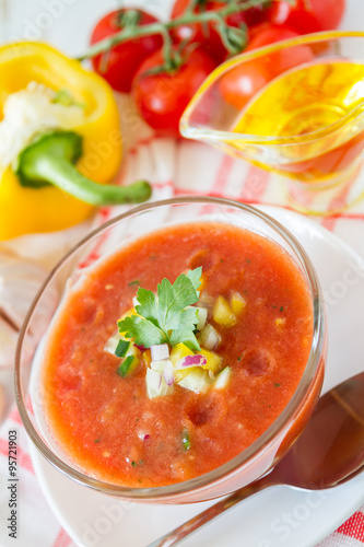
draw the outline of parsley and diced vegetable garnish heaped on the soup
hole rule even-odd
[[[172,393],[174,383],[204,393],[223,366],[223,358],[212,351],[221,336],[207,324],[209,309],[213,306],[213,318],[218,324],[231,327],[236,324],[236,315],[242,313],[246,303],[238,292],[234,292],[231,304],[222,295],[214,302],[206,294],[200,299],[200,305],[195,306],[201,274],[201,268],[189,270],[174,284],[163,279],[156,294],[139,288],[133,299],[136,309],[124,314],[118,322],[120,334],[108,342],[108,347],[124,358],[118,369],[122,377],[137,369],[143,351],[150,398]],[[196,330],[200,331],[198,339]],[[226,382],[228,371],[220,376],[215,386],[223,385],[224,379]]]

